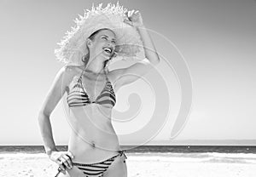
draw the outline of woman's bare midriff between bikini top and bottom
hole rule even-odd
[[[96,104],[70,109],[68,151],[73,153],[73,162],[98,163],[118,153],[119,140],[110,117],[109,108]]]

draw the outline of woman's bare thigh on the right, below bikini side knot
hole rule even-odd
[[[113,163],[103,173],[103,177],[127,177],[127,166],[123,157],[115,157]]]

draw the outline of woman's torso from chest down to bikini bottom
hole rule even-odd
[[[69,109],[67,118],[72,128],[68,151],[73,153],[74,162],[96,163],[113,157],[120,150],[118,136],[111,123],[113,102],[115,102],[113,101],[114,91],[111,79],[106,77],[107,75],[102,74],[96,79],[96,77],[84,73],[80,80],[84,88],[79,89],[82,94],[75,95],[79,97],[73,99],[73,95],[70,96],[71,91],[83,73],[80,66],[75,67],[73,80],[67,86],[67,99],[69,99],[69,101],[66,100]],[[107,87],[106,83],[108,83]],[[102,94],[104,88],[104,93],[107,94]],[[84,97],[83,91],[88,98]],[[113,95],[110,96],[110,94]],[[80,98],[83,101],[79,102]],[[97,102],[92,103],[95,100]]]

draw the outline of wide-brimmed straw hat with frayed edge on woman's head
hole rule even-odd
[[[76,26],[72,27],[72,31],[67,31],[67,35],[58,43],[60,48],[55,49],[57,60],[72,65],[83,64],[82,57],[89,52],[86,39],[102,28],[115,33],[115,57],[127,60],[144,56],[143,43],[137,29],[125,23],[128,20],[127,12],[119,3],[108,3],[105,8],[100,3],[97,7],[92,5],[91,10],[84,10],[84,15],[79,15],[79,19],[74,20]]]

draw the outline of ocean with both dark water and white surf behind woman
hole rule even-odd
[[[186,163],[253,163],[256,146],[121,146],[136,161]],[[67,151],[67,146],[57,146]],[[0,157],[45,157],[44,146],[0,146]]]

